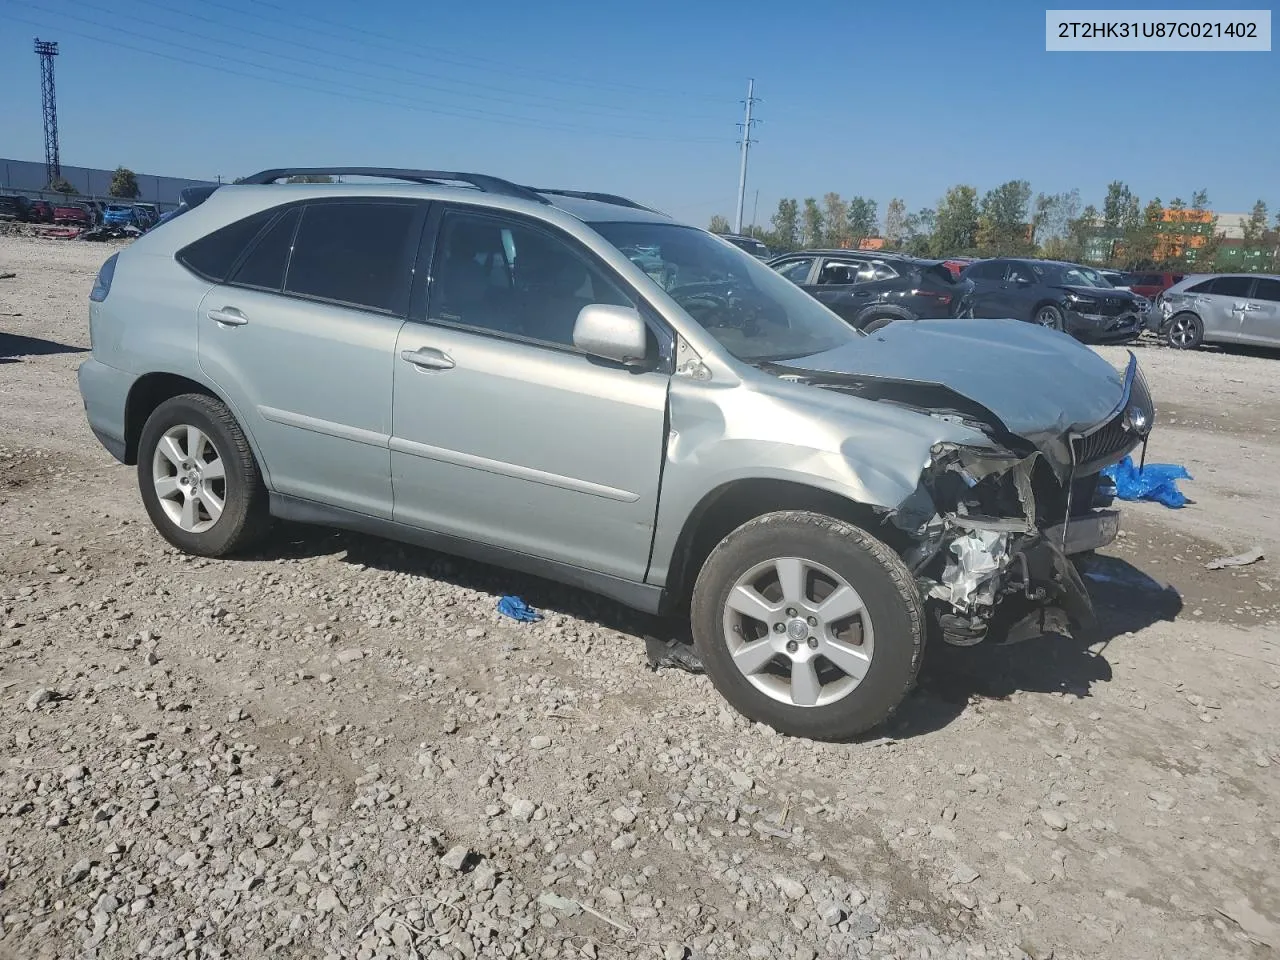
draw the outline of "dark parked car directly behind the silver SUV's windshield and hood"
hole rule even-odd
[[[868,333],[895,320],[968,316],[972,307],[973,284],[952,276],[940,260],[806,250],[771,260],[769,266]]]

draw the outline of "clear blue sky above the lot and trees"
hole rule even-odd
[[[1014,178],[1280,209],[1280,54],[1050,54],[1043,4],[0,0],[0,154],[29,160],[35,36],[60,44],[61,156],[84,166],[483,170],[705,224],[733,215],[754,77],[746,220],[755,191],[767,221],[783,196],[883,212]]]

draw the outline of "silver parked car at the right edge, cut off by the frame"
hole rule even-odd
[[[1156,333],[1178,349],[1202,343],[1280,347],[1280,276],[1185,276],[1160,294],[1157,316]]]

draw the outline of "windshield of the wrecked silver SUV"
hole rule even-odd
[[[795,360],[860,337],[794,283],[709,233],[664,223],[591,227],[739,360]]]

